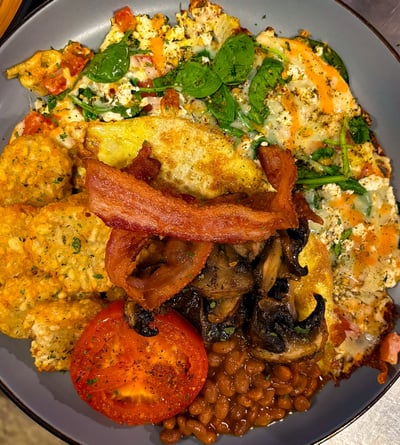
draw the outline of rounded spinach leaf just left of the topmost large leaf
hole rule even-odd
[[[175,82],[182,91],[197,99],[215,93],[222,84],[221,79],[209,65],[200,62],[186,62],[176,75]]]

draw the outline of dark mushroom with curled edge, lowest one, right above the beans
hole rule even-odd
[[[325,300],[318,294],[314,297],[315,309],[302,321],[293,318],[284,302],[263,298],[255,307],[249,330],[252,354],[269,362],[288,363],[321,351],[327,339]]]

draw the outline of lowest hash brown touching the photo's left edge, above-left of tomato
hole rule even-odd
[[[25,272],[0,287],[0,331],[10,337],[29,338],[30,326],[25,319],[42,301],[65,298],[60,282],[42,272]]]

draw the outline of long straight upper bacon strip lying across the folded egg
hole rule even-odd
[[[273,210],[264,211],[229,202],[189,204],[163,194],[134,176],[90,159],[86,164],[89,209],[113,228],[190,241],[262,241],[277,230],[298,225],[289,193],[292,180],[284,179],[292,164],[295,170],[293,159],[290,161],[288,164],[280,163],[285,172],[281,172],[283,184],[278,184],[272,200]]]

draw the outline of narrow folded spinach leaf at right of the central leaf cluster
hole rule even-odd
[[[268,116],[269,110],[264,101],[278,82],[283,81],[281,77],[283,68],[281,61],[266,57],[250,83],[249,102],[251,109],[249,117],[258,124],[262,124]]]

